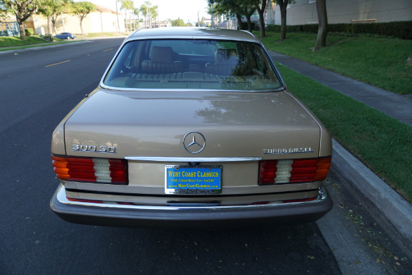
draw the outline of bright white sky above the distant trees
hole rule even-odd
[[[76,2],[81,0],[76,0]],[[111,10],[116,11],[116,0],[86,0],[91,3],[95,3],[96,5],[103,5],[106,8],[110,8]],[[133,0],[135,3],[135,8],[140,8],[140,6],[145,2],[144,0]],[[150,0],[150,3],[153,5],[157,5],[159,8],[159,19],[163,21],[165,19],[183,19],[187,23],[187,21],[196,23],[198,20],[198,12],[199,17],[209,18],[210,16],[207,14],[207,0]],[[120,3],[118,4],[119,10],[122,6]],[[123,12],[123,11],[121,11]],[[143,18],[141,14],[139,14],[139,18]]]

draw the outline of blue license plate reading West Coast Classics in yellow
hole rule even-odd
[[[221,165],[166,165],[165,193],[210,195],[222,192]]]

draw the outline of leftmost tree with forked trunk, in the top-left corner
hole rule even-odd
[[[16,21],[20,28],[20,39],[26,40],[24,21],[37,12],[38,0],[3,0],[2,3],[16,15]]]

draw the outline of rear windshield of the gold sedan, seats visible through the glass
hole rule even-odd
[[[200,39],[130,41],[105,76],[104,85],[242,91],[282,86],[258,43]]]

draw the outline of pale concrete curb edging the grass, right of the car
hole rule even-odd
[[[332,140],[332,146],[331,179],[344,184],[411,259],[411,204],[336,140]]]

